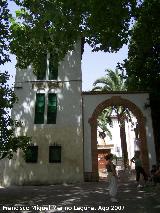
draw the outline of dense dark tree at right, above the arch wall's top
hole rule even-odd
[[[160,85],[160,1],[144,0],[132,30],[125,61],[129,90],[159,93]]]

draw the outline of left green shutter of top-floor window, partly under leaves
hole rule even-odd
[[[38,64],[36,65],[37,71],[37,80],[45,80],[46,79],[46,70],[47,70],[47,55],[42,54],[39,56]]]

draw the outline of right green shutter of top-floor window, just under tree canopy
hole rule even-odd
[[[58,78],[58,60],[56,55],[50,54],[49,59],[49,80],[57,80]]]

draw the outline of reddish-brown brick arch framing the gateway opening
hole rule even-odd
[[[140,151],[142,153],[142,164],[147,172],[149,172],[149,159],[148,148],[145,129],[145,117],[142,111],[133,102],[121,98],[120,96],[113,96],[100,103],[94,110],[92,117],[89,119],[91,125],[91,153],[92,153],[92,174],[91,180],[98,181],[98,154],[97,154],[97,118],[101,112],[109,106],[124,106],[127,107],[137,118],[139,124],[139,137],[140,137]]]

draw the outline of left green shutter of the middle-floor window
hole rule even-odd
[[[36,106],[35,106],[35,124],[44,123],[44,110],[45,110],[45,94],[36,94]]]

